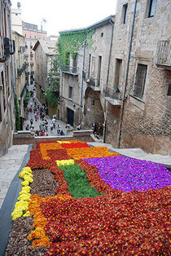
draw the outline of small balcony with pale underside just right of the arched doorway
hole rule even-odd
[[[103,86],[103,98],[113,106],[121,106],[121,92],[118,88]]]

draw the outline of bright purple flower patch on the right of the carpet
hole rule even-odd
[[[83,159],[99,169],[101,178],[114,189],[131,192],[171,185],[171,173],[151,161],[128,157],[96,157]]]

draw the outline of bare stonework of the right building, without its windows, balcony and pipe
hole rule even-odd
[[[134,1],[128,2],[126,23],[122,23],[124,0],[118,1],[116,8],[116,24],[112,48],[112,65],[110,77],[116,69],[116,59],[122,60],[121,88],[122,99],[125,87],[125,76],[129,54],[129,40],[133,20]],[[170,153],[171,103],[168,94],[171,84],[171,72],[156,66],[157,42],[170,38],[171,2],[159,0],[156,2],[155,15],[147,17],[148,1],[138,1],[134,22],[133,42],[129,60],[129,73],[126,88],[123,125],[121,128],[121,148],[142,148],[147,152],[167,155]],[[147,65],[147,76],[142,98],[131,93],[134,88],[138,64]],[[107,141],[116,147],[116,139],[120,134],[120,126],[112,130],[116,115],[112,107],[107,109]],[[117,109],[116,109],[117,112]],[[117,113],[118,123],[121,116]],[[110,133],[110,134],[109,134]]]

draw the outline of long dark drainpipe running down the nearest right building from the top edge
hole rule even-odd
[[[120,135],[119,135],[119,141],[118,141],[118,148],[120,148],[120,143],[121,143],[121,129],[122,129],[122,123],[123,123],[124,108],[125,108],[125,95],[126,95],[126,87],[127,87],[127,83],[128,83],[129,60],[130,60],[130,51],[131,51],[132,41],[133,41],[134,20],[135,20],[135,14],[136,14],[136,7],[137,7],[137,0],[135,0],[135,4],[134,4],[133,24],[132,24],[131,35],[130,35],[130,42],[129,42],[129,55],[128,55],[128,63],[127,63],[127,68],[126,68],[125,89],[124,89],[124,99],[123,99],[123,102],[122,102],[121,126],[120,126]]]

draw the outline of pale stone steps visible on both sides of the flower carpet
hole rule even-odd
[[[109,150],[121,153],[121,155],[124,155],[125,157],[133,157],[137,159],[153,161],[163,164],[164,166],[171,167],[170,156],[153,155],[147,152],[143,152],[141,148],[113,148],[111,144],[102,143],[102,141],[97,139],[95,142],[88,142],[88,144],[94,147],[107,147]],[[20,169],[20,165],[28,151],[28,147],[29,145],[13,145],[11,148],[9,148],[5,156],[0,157],[0,208],[5,196],[7,195],[7,191],[10,187],[12,179]]]

